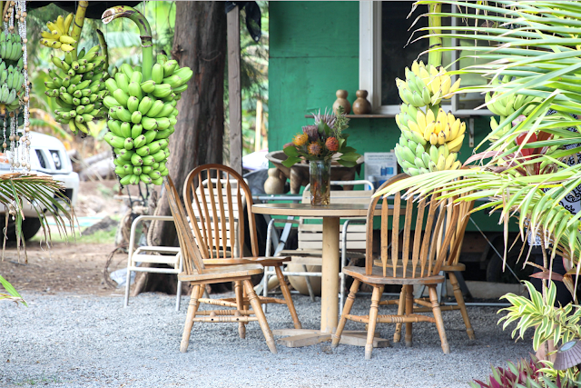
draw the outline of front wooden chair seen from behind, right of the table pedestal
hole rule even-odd
[[[391,178],[382,187],[387,187],[401,179],[408,177],[406,174],[399,174]],[[381,201],[381,231],[380,250],[382,268],[373,265],[373,214],[376,204]],[[393,200],[393,214],[388,213],[390,205],[387,198],[374,198],[369,205],[368,212],[368,234],[365,267],[348,266],[343,272],[353,278],[347,302],[340,317],[337,332],[332,335],[332,346],[339,345],[341,333],[345,323],[356,321],[368,324],[368,336],[365,346],[365,358],[371,358],[373,350],[373,337],[377,323],[406,323],[406,345],[412,344],[412,323],[430,322],[436,323],[442,350],[449,353],[448,340],[444,330],[444,322],[438,303],[436,286],[444,282],[444,276],[439,274],[442,264],[447,262],[448,252],[453,234],[450,229],[456,227],[458,222],[458,208],[455,206],[449,220],[449,228],[443,235],[434,233],[440,231],[446,218],[446,212],[438,211],[441,204],[429,197],[422,199],[419,204],[415,204],[413,198],[409,198],[406,203],[405,212],[401,208],[401,194],[395,194]],[[412,214],[414,207],[417,207],[418,214],[415,218],[415,231],[412,232]],[[403,247],[402,259],[399,262],[399,231],[400,218],[403,217]],[[388,260],[389,250],[389,222],[391,223],[391,256]],[[424,226],[424,228],[422,228]],[[422,233],[422,229],[425,232]],[[413,234],[413,236],[412,236]],[[443,242],[441,239],[443,239]],[[410,257],[411,256],[411,257]],[[371,296],[371,307],[369,315],[351,315],[351,307],[355,300],[355,294],[359,290],[361,283],[369,284],[373,287]],[[397,315],[379,315],[378,307],[386,284],[401,284],[406,289],[405,301],[399,300],[399,311]],[[414,313],[413,311],[413,286],[426,285],[429,291],[429,302],[417,301],[425,307],[429,307],[432,316]],[[403,294],[403,293],[402,293]],[[404,310],[405,307],[405,310]]]

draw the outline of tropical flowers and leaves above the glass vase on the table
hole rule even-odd
[[[296,134],[292,143],[285,144],[283,151],[287,159],[282,162],[286,167],[308,161],[337,161],[346,167],[354,167],[361,156],[355,148],[347,145],[349,134],[343,131],[348,128],[349,118],[343,108],[328,114],[313,114],[315,124],[302,127],[302,133]]]

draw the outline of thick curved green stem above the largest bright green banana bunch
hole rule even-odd
[[[106,9],[101,16],[103,24],[108,24],[118,17],[127,17],[139,28],[139,37],[142,39],[142,72],[143,81],[152,79],[153,68],[153,41],[152,28],[143,14],[128,5],[118,5]]]

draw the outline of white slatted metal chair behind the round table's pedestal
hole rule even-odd
[[[371,195],[374,193],[373,184],[368,180],[356,181],[331,181],[331,185],[350,186],[355,184],[364,184],[366,190],[338,190],[330,192],[330,201],[333,204],[369,204]],[[310,203],[309,185],[302,194],[302,203]],[[369,188],[369,190],[368,190]],[[322,265],[322,224],[309,224],[309,217],[300,217],[299,220],[280,220],[272,219],[267,231],[266,255],[271,254],[272,233],[274,232],[274,223],[292,223],[298,224],[299,248],[297,250],[281,250],[275,252],[274,256],[291,256],[290,264],[300,264],[302,272],[285,271],[285,276],[304,276],[309,290],[310,299],[314,301],[314,292],[310,284],[310,277],[321,277],[321,272],[308,272],[306,265]],[[344,220],[340,239],[341,239],[341,272],[340,276],[340,312],[342,311],[345,299],[345,275],[342,268],[347,265],[348,257],[364,258],[365,253],[365,235],[366,235],[366,218],[346,218]],[[361,251],[361,252],[357,252]],[[265,268],[264,278],[262,279],[262,293],[268,296],[268,279],[275,274],[271,268]]]

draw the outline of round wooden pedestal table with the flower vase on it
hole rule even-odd
[[[320,295],[320,330],[275,330],[279,335],[294,335],[282,342],[290,347],[306,346],[330,340],[339,321],[340,273],[340,218],[366,217],[368,204],[253,204],[252,213],[269,215],[295,215],[323,219],[322,277]],[[379,215],[380,208],[376,209]],[[298,334],[298,335],[297,335]],[[345,335],[343,335],[345,337]],[[347,339],[346,339],[347,340]],[[355,343],[353,343],[355,344]],[[365,343],[363,343],[365,344]]]

